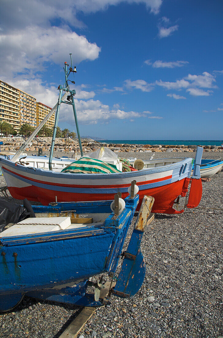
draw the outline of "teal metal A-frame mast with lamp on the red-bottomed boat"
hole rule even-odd
[[[72,54],[70,54],[71,56]],[[50,157],[49,157],[49,169],[52,170],[52,158],[53,158],[53,149],[54,149],[54,143],[55,143],[55,138],[56,138],[56,131],[57,131],[57,125],[58,125],[58,119],[59,119],[59,112],[60,112],[60,104],[61,103],[66,103],[66,104],[71,104],[73,106],[73,112],[74,112],[74,118],[75,118],[75,124],[76,124],[76,129],[77,129],[77,134],[78,134],[78,141],[79,141],[79,146],[80,146],[80,152],[81,152],[81,156],[83,156],[83,150],[82,150],[82,145],[81,145],[81,137],[80,137],[80,131],[79,131],[79,126],[78,126],[78,120],[77,120],[77,113],[76,113],[76,108],[75,108],[75,103],[74,103],[74,95],[76,94],[75,90],[70,90],[67,81],[68,80],[68,76],[69,74],[72,72],[77,73],[76,71],[76,67],[74,67],[74,69],[72,68],[72,56],[71,56],[71,67],[69,68],[69,73],[67,70],[67,67],[69,65],[67,64],[67,62],[64,62],[64,72],[65,72],[65,83],[63,84],[63,88],[60,85],[58,87],[59,89],[59,97],[58,97],[58,103],[57,103],[57,110],[56,110],[56,114],[55,114],[55,123],[54,123],[54,129],[53,129],[53,137],[52,137],[52,143],[51,143],[51,148],[50,148]],[[72,83],[75,84],[74,81],[71,81]],[[69,93],[70,95],[67,96],[67,101],[63,101],[62,100],[62,92],[65,91],[67,93]]]

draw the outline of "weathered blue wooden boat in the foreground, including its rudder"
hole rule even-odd
[[[115,195],[113,213],[111,201],[54,202],[48,206],[32,206],[37,218],[27,219],[32,226],[38,226],[38,216],[62,215],[75,222],[80,218],[93,218],[92,223],[85,224],[81,220],[81,224],[72,222],[64,230],[32,234],[15,231],[13,236],[7,236],[7,232],[18,225],[3,231],[0,234],[0,311],[15,307],[24,295],[73,305],[101,306],[102,280],[93,283],[89,278],[105,272],[111,278],[115,275],[139,202],[139,195],[133,192],[134,189],[120,213],[121,199]],[[110,290],[121,297],[133,296],[143,283],[145,263],[140,243],[153,201],[150,196],[144,197],[128,250],[123,253],[117,283]],[[20,227],[23,225],[27,226],[20,224]],[[48,222],[46,227],[49,225],[53,224]],[[86,292],[89,285],[95,287],[95,294]]]

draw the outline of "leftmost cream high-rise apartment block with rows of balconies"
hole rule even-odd
[[[0,120],[20,128],[20,90],[0,80]]]

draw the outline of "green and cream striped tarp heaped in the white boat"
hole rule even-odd
[[[115,173],[119,171],[115,165],[106,163],[98,159],[91,159],[89,157],[82,157],[81,159],[69,164],[61,172],[71,172],[71,173],[84,173],[84,174],[94,174],[94,173]]]

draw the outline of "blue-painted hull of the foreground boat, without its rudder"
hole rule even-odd
[[[86,294],[86,285],[90,276],[116,270],[139,196],[128,196],[125,201],[126,207],[116,219],[111,213],[99,226],[1,239],[0,310],[11,309],[24,294],[82,306],[102,305]],[[100,203],[62,202],[33,209],[43,213],[75,207],[81,212],[101,213]],[[107,210],[110,203],[101,204]],[[70,283],[77,285],[67,286]]]

